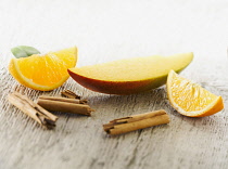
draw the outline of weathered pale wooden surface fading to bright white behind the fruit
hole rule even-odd
[[[8,0],[0,3],[0,169],[228,168],[228,2],[198,0]],[[189,118],[170,107],[165,87],[132,95],[89,91],[68,79],[50,92],[28,89],[8,72],[15,46],[42,52],[76,46],[78,66],[194,52],[181,73],[221,95],[225,109]],[[18,91],[36,100],[69,89],[89,100],[91,117],[60,116],[45,130],[5,100]],[[164,108],[170,123],[109,136],[102,125]]]

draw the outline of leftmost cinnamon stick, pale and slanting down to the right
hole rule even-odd
[[[27,96],[14,92],[8,95],[8,100],[11,104],[20,108],[24,114],[35,119],[41,126],[48,129],[55,127],[58,117],[34,103]]]

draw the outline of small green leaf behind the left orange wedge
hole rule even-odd
[[[18,47],[12,48],[11,52],[13,53],[13,55],[16,58],[27,57],[27,56],[30,56],[33,54],[39,54],[40,53],[37,49],[35,49],[33,47],[27,47],[27,46],[18,46]]]

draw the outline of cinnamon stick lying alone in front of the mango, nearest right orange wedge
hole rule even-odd
[[[152,126],[168,123],[169,117],[164,109],[118,118],[103,125],[106,133],[122,134]]]

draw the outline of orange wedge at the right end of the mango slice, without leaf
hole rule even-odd
[[[173,107],[189,117],[204,117],[224,108],[221,96],[217,96],[170,70],[167,78],[167,95]]]

